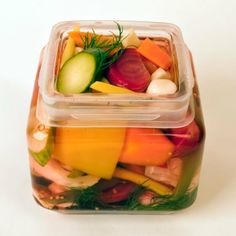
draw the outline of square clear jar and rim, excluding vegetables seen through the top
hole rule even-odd
[[[33,196],[68,213],[161,213],[197,194],[205,129],[191,53],[173,24],[124,22],[171,57],[177,91],[62,94],[56,89],[68,32],[112,35],[112,21],[61,22],[42,50],[27,127]]]

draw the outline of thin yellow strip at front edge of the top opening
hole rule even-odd
[[[93,83],[90,88],[96,92],[100,93],[134,93],[133,91],[126,89],[126,88],[121,88],[112,84],[108,84],[106,82],[100,82],[96,81]]]

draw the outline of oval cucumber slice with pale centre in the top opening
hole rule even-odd
[[[66,61],[58,76],[58,92],[63,94],[84,92],[99,74],[102,53],[99,49],[89,49]]]

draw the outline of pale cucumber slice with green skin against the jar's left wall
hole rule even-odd
[[[55,128],[42,125],[36,118],[36,107],[31,108],[27,128],[28,150],[41,165],[49,161],[54,148]]]

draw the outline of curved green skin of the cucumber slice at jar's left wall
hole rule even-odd
[[[50,128],[46,146],[41,151],[34,152],[33,150],[28,149],[30,155],[41,166],[45,166],[51,158],[54,149],[54,136],[55,136],[55,128]]]

